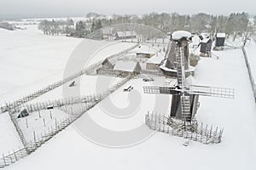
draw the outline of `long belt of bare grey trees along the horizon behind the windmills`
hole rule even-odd
[[[86,37],[93,31],[101,29],[103,26],[111,26],[121,23],[138,23],[146,26],[153,26],[164,32],[172,32],[177,30],[184,31],[200,31],[212,33],[216,29],[225,32],[228,36],[242,34],[252,31],[256,26],[256,16],[254,26],[249,22],[248,14],[232,13],[230,15],[212,15],[212,14],[177,14],[177,13],[150,13],[137,16],[136,14],[113,14],[106,17],[101,14],[89,13],[86,20],[79,20],[75,24],[73,20],[67,21],[48,21],[43,20],[39,24],[39,29],[44,34],[58,35],[65,33],[72,37]]]

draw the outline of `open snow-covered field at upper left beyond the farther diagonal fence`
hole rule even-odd
[[[0,80],[0,105],[60,81],[68,59],[75,54],[79,54],[78,63],[89,60],[86,64],[91,65],[135,45],[45,36],[37,26],[26,28],[23,31],[0,29],[0,77],[4,77]]]

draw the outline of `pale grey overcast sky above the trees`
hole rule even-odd
[[[0,16],[79,16],[100,14],[256,14],[256,0],[0,0]]]

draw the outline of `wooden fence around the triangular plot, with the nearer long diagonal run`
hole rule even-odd
[[[80,116],[82,116],[86,111],[89,111],[90,108],[92,108],[94,105],[96,105],[98,102],[102,101],[102,99],[105,99],[108,97],[109,94],[112,94],[117,88],[120,88],[123,86],[126,82],[128,82],[132,77],[125,77],[125,79],[121,80],[120,82],[113,85],[113,87],[107,89],[102,94],[92,95],[90,96],[90,99],[87,97],[82,98],[68,98],[68,99],[60,99],[60,100],[54,100],[54,101],[48,101],[48,103],[37,103],[32,105],[23,105],[22,107],[28,108],[29,111],[39,111],[39,110],[45,110],[47,109],[47,106],[49,105],[57,105],[60,104],[63,105],[74,105],[78,103],[87,103],[88,105],[83,105],[76,111],[72,111],[73,114],[70,114],[70,116],[65,119],[63,122],[56,122],[55,127],[50,127],[48,129],[48,132],[44,132],[44,134],[41,134],[41,136],[37,136],[34,132],[34,141],[26,142],[26,139],[24,138],[24,135],[22,131],[20,130],[20,127],[18,123],[15,120],[15,114],[14,112],[9,113],[11,116],[12,121],[15,124],[16,131],[20,135],[20,139],[22,141],[23,147],[20,150],[12,151],[9,155],[2,156],[0,158],[0,167],[6,167],[9,166],[11,163],[14,163],[15,161],[19,161],[21,158],[30,155],[33,151],[37,150],[38,147],[40,147],[42,144],[47,142],[49,139],[51,139],[53,136],[55,136],[56,133],[61,132],[64,128],[66,128],[68,125],[76,121]],[[87,99],[87,100],[84,100]],[[58,107],[61,107],[60,105],[57,105]],[[15,108],[14,111],[19,111],[19,108]],[[32,109],[31,109],[32,108]]]

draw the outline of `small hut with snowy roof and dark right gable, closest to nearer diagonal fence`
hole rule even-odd
[[[119,71],[119,74],[125,77],[139,74],[142,67],[139,62],[118,60],[113,67],[113,71]]]

